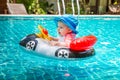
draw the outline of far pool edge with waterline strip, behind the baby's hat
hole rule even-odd
[[[56,16],[61,16],[61,15],[0,15],[1,19],[53,19]],[[120,19],[120,15],[74,15],[78,19],[101,19],[101,18],[109,18],[109,19]]]

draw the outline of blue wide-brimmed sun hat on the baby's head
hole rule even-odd
[[[78,20],[75,19],[74,16],[72,15],[59,16],[59,17],[55,17],[54,21],[56,25],[58,25],[58,21],[61,21],[66,26],[68,26],[73,31],[73,33],[75,34],[78,33],[78,31],[76,31],[76,27],[78,26]]]

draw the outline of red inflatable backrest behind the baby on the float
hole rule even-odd
[[[96,43],[97,38],[93,35],[77,38],[70,43],[70,49],[75,51],[88,50]]]

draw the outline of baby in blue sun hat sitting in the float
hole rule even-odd
[[[78,25],[78,20],[73,16],[65,15],[55,18],[57,24],[57,31],[60,35],[59,38],[51,37],[50,44],[52,46],[63,46],[69,47],[70,42],[75,39],[77,34],[76,27]]]

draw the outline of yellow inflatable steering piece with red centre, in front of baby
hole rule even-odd
[[[39,25],[38,29],[41,32],[40,34],[36,34],[38,37],[46,39],[46,40],[51,40],[51,38],[49,37],[48,31],[45,28]]]

